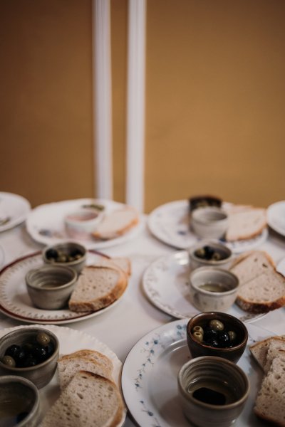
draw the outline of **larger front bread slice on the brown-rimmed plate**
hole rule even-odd
[[[84,267],[68,301],[69,309],[76,312],[100,310],[118,300],[127,285],[127,276],[120,268]]]

